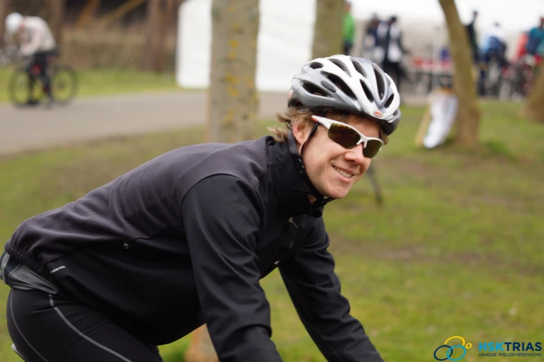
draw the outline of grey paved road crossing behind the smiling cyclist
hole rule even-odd
[[[273,118],[286,95],[261,94],[259,117]],[[0,155],[119,135],[204,124],[206,92],[84,98],[67,107],[0,105]]]

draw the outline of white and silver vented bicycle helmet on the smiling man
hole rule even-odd
[[[365,58],[333,55],[304,64],[291,80],[288,106],[329,108],[365,114],[377,121],[386,135],[401,119],[397,86],[377,64]]]

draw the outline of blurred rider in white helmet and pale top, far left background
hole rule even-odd
[[[19,35],[22,42],[19,55],[30,57],[31,62],[28,64],[28,72],[35,66],[40,69],[40,76],[44,82],[44,91],[49,98],[49,105],[53,101],[51,94],[51,80],[48,76],[48,58],[56,51],[56,42],[47,22],[40,17],[24,17],[18,12],[12,12],[6,17],[6,34],[8,37]],[[30,77],[31,83],[30,94],[33,94],[33,77]],[[33,105],[38,103],[38,100],[28,98],[28,104]]]

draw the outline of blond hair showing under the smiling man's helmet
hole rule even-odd
[[[294,126],[300,123],[306,123],[313,125],[314,121],[311,116],[315,114],[315,110],[308,110],[306,108],[289,107],[286,114],[276,114],[277,121],[282,123],[281,126],[269,127],[268,130],[272,132],[274,140],[281,143],[287,143],[289,132],[291,132]],[[321,114],[320,114],[321,115]],[[327,111],[323,117],[333,119],[334,121],[347,123],[349,114]],[[384,130],[379,128],[379,139],[384,141],[384,144],[388,143],[388,138]]]

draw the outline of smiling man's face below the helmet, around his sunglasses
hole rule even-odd
[[[354,115],[347,123],[367,137],[379,137],[379,126],[374,121]],[[309,125],[293,128],[299,152],[311,130]],[[320,125],[315,130],[302,155],[306,173],[313,186],[325,197],[343,198],[349,189],[363,177],[370,167],[370,159],[363,156],[363,144],[347,149],[327,135],[327,128]]]

